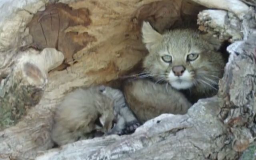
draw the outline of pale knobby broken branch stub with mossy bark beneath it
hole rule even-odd
[[[12,126],[26,110],[40,101],[47,84],[47,72],[64,60],[61,52],[45,48],[19,52],[15,65],[0,84],[0,130]]]

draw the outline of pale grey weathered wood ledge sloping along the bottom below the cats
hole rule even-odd
[[[186,115],[162,114],[146,122],[131,136],[123,136],[115,142],[112,142],[112,136],[106,137],[100,150],[96,145],[94,146],[94,143],[90,144],[90,141],[85,140],[63,146],[61,150],[48,151],[37,160],[56,160],[62,157],[77,160],[96,160],[104,157],[112,160],[153,158],[204,160],[212,154],[212,147],[216,153],[210,157],[214,158],[224,147],[221,142],[226,138],[224,125],[216,117],[220,111],[218,108],[220,104],[221,100],[215,97],[200,101]],[[214,144],[212,144],[213,139],[216,140]],[[84,148],[83,152],[72,152],[78,148]],[[66,152],[67,150],[70,152]],[[222,154],[232,154],[232,151]]]

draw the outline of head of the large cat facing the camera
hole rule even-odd
[[[149,51],[144,68],[157,80],[169,82],[176,89],[197,86],[212,90],[218,85],[225,62],[216,52],[220,41],[212,36],[189,29],[160,34],[144,22],[142,38]]]

